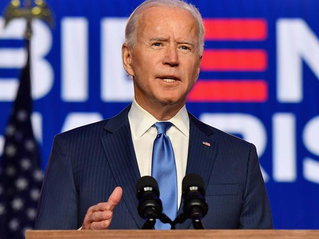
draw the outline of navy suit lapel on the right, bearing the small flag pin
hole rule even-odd
[[[211,127],[199,121],[190,113],[188,113],[188,116],[189,143],[186,175],[189,173],[199,174],[203,178],[205,188],[207,189],[217,154],[217,143],[213,141],[213,130]],[[203,142],[210,143],[210,146],[203,144]],[[182,198],[177,215],[183,212],[183,206],[184,200]],[[187,229],[190,224],[191,220],[188,219],[182,224],[177,224],[176,229]]]

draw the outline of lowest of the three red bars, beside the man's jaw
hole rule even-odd
[[[200,80],[187,96],[188,102],[265,102],[265,80]]]

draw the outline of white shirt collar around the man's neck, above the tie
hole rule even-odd
[[[153,124],[159,121],[149,112],[139,106],[135,98],[133,99],[128,117],[134,141],[141,137],[150,127],[152,127]],[[173,123],[174,126],[178,130],[180,130],[187,138],[189,137],[189,118],[185,105],[173,118],[167,121]]]

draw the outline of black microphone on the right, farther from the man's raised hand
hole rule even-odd
[[[192,219],[195,229],[204,229],[201,220],[207,214],[208,205],[203,179],[196,173],[187,174],[182,182],[182,190],[185,216]]]

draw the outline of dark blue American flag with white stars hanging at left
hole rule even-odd
[[[5,129],[0,161],[0,239],[24,239],[25,230],[33,228],[43,179],[30,120],[30,53],[26,41],[27,64]]]

